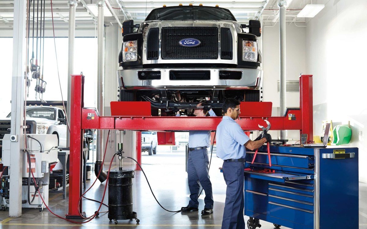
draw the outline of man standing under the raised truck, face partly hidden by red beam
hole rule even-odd
[[[206,108],[206,102],[202,101],[197,104],[194,115],[197,117],[205,117],[209,112],[210,116],[215,115],[214,111]],[[179,116],[179,111],[176,116]],[[190,201],[188,206],[182,207],[181,211],[198,211],[200,184],[204,189],[204,210],[203,215],[213,213],[213,192],[209,177],[209,157],[207,148],[210,147],[210,130],[190,130],[189,131],[189,158],[187,162],[187,176],[190,189]],[[200,184],[199,184],[200,182]]]

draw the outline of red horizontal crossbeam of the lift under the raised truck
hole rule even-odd
[[[139,102],[137,102],[139,103]],[[260,102],[259,102],[260,103]],[[292,115],[294,119],[289,119]],[[93,119],[91,118],[93,117]],[[301,130],[300,110],[288,110],[286,117],[265,117],[272,123],[272,130]],[[260,117],[239,117],[236,122],[245,131],[261,130]],[[95,109],[83,109],[82,129],[117,129],[117,130],[216,130],[222,117],[99,117]]]

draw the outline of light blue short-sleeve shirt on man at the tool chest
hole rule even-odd
[[[217,157],[223,160],[245,158],[246,147],[250,138],[240,125],[231,117],[223,116],[217,126]]]

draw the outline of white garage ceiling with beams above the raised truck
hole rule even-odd
[[[28,0],[30,1],[30,0]],[[97,0],[77,0],[76,8],[76,30],[78,29],[95,29],[97,22],[93,12],[88,7],[89,4],[96,3]],[[289,0],[288,0],[289,1]],[[43,2],[43,0],[42,0]],[[121,23],[126,19],[133,19],[135,24],[144,21],[149,12],[163,4],[167,6],[188,5],[203,5],[215,6],[219,5],[222,8],[228,8],[236,17],[237,21],[246,24],[250,19],[263,19],[263,24],[274,25],[275,15],[279,11],[278,0],[219,0],[213,3],[212,0],[105,0],[106,7],[112,13],[112,16],[105,17],[105,23]],[[31,2],[30,7],[30,27],[32,28],[33,18],[33,3],[34,3],[34,18],[37,18],[37,0]],[[69,7],[68,0],[45,0],[45,28],[52,28],[52,16],[54,18],[54,27],[56,29],[68,29]],[[293,0],[287,8],[287,22],[304,22],[304,18],[297,18],[298,12],[306,5],[310,4],[311,0]],[[38,0],[39,14],[41,8],[41,0]],[[14,16],[14,1],[0,0],[0,30],[12,30]],[[52,15],[53,14],[53,15]],[[36,20],[35,20],[36,21]],[[36,25],[34,25],[36,27]]]

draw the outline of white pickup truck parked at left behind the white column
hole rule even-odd
[[[58,107],[53,106],[27,106],[26,125],[27,134],[56,134],[59,148],[66,147],[66,115]],[[4,134],[10,133],[11,113],[6,118],[0,119],[0,141]]]

